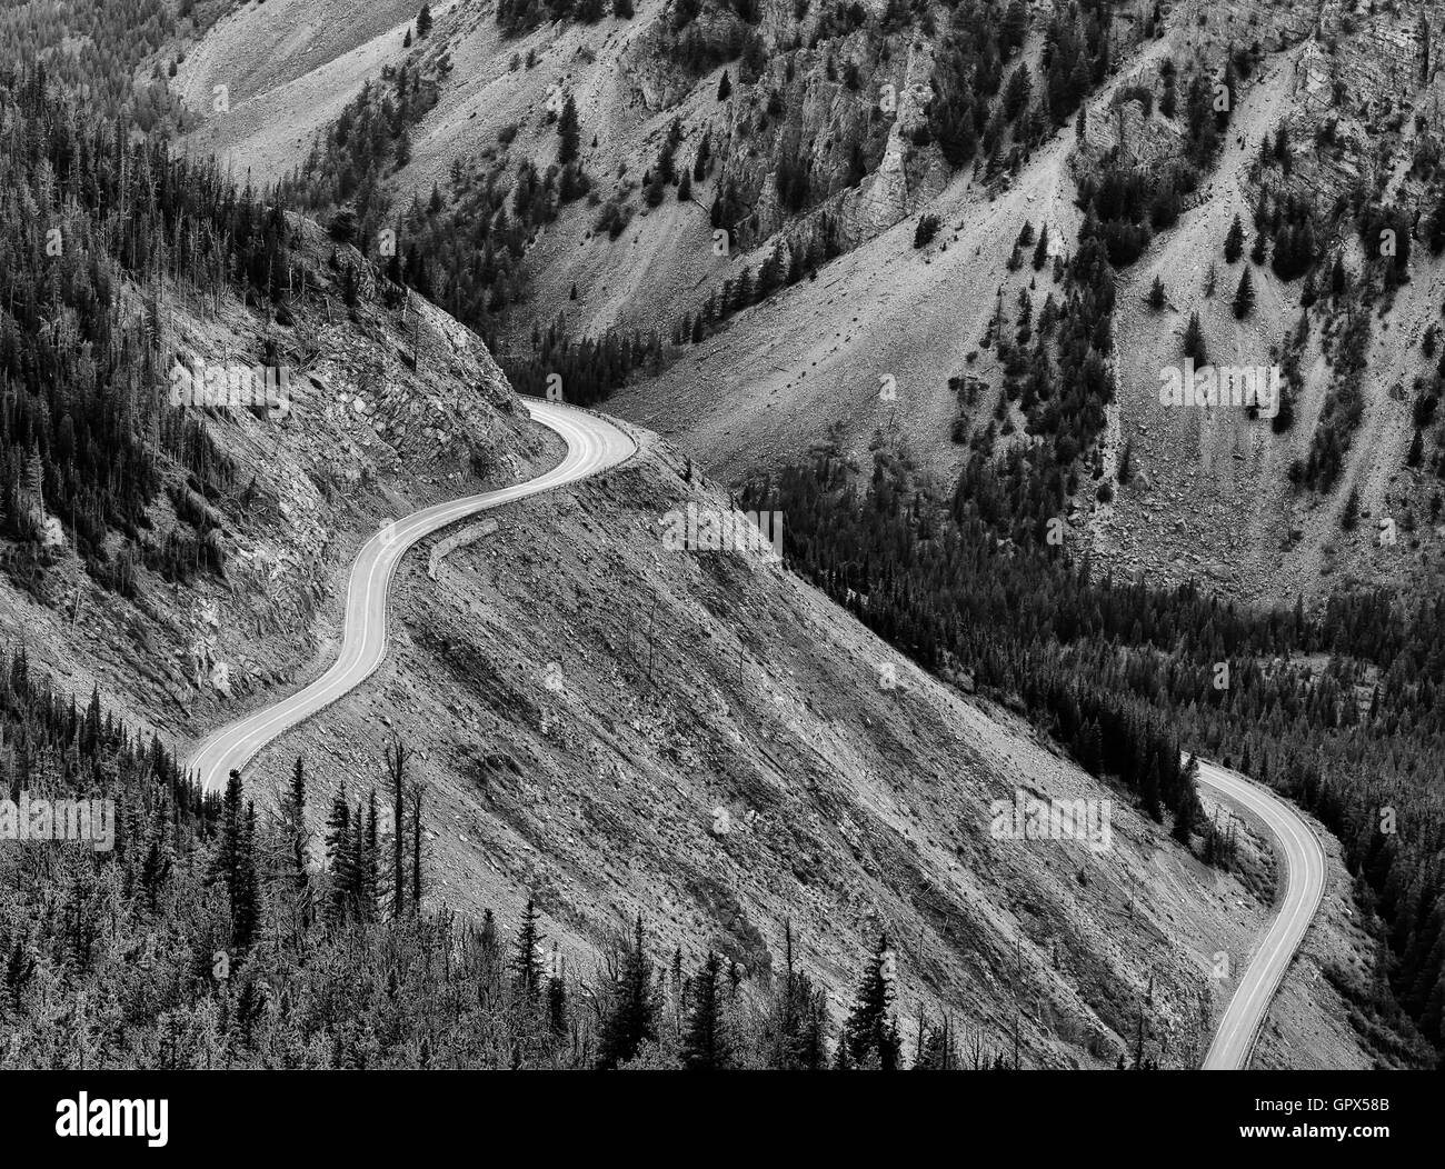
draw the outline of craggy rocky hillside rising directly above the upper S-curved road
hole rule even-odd
[[[379,523],[559,457],[465,328],[387,293],[315,224],[290,220],[288,236],[292,290],[266,308],[230,288],[142,290],[117,273],[118,319],[155,338],[153,373],[130,402],[159,490],[129,533],[78,533],[39,455],[12,497],[0,631],[62,689],[98,686],[143,730],[186,737],[312,669],[335,636],[345,568]],[[104,264],[71,238],[81,270]],[[79,302],[52,327],[48,351],[84,353]],[[182,368],[220,373],[220,405],[199,400],[199,377],[195,405],[171,405]],[[254,407],[250,380],[227,405],[237,373],[256,374]],[[38,436],[46,460],[64,442],[59,415],[84,418],[74,387],[51,390],[61,438]],[[20,510],[33,523],[17,526]]]

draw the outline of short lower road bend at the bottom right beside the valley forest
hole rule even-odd
[[[1263,821],[1285,858],[1285,900],[1204,1056],[1205,1071],[1224,1071],[1248,1064],[1254,1036],[1325,893],[1325,850],[1299,814],[1267,788],[1202,759],[1199,783]]]

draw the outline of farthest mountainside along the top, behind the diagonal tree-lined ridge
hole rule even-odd
[[[355,201],[368,236],[406,211],[400,234],[423,238],[432,264],[441,241],[420,212],[434,191],[426,217],[441,212],[449,236],[480,249],[497,228],[478,214],[491,220],[500,204],[478,212],[475,192],[514,192],[519,168],[535,168],[551,207],[532,217],[525,256],[510,244],[520,263],[500,279],[483,273],[484,308],[470,319],[519,355],[533,325],[559,312],[569,337],[666,335],[709,298],[725,316],[744,272],[751,280],[775,257],[775,283],[783,273],[795,283],[903,220],[975,153],[980,182],[997,181],[1051,129],[1043,103],[1020,113],[1003,91],[1022,81],[1026,105],[1029,85],[1048,79],[1066,91],[1053,100],[1061,123],[1090,78],[1056,75],[1077,59],[1103,68],[1150,23],[1131,10],[1108,23],[1107,6],[1090,0],[1040,13],[1043,45],[1027,35],[1023,0],[551,10],[569,14],[548,23],[509,6],[438,6],[428,36],[393,26],[364,45],[327,12],[305,51],[282,35],[282,14],[243,10],[186,58],[173,87],[207,118],[194,149],[263,182],[301,165],[298,189],[316,210]],[[263,64],[276,56],[283,64]],[[217,111],[208,95],[233,79]],[[579,131],[575,159],[562,158],[565,105]],[[367,108],[386,127],[380,150],[327,126],[338,116],[355,124]],[[306,159],[311,130],[322,129],[324,149]],[[370,126],[366,139],[377,146]],[[474,277],[454,269],[448,293],[462,279]]]

